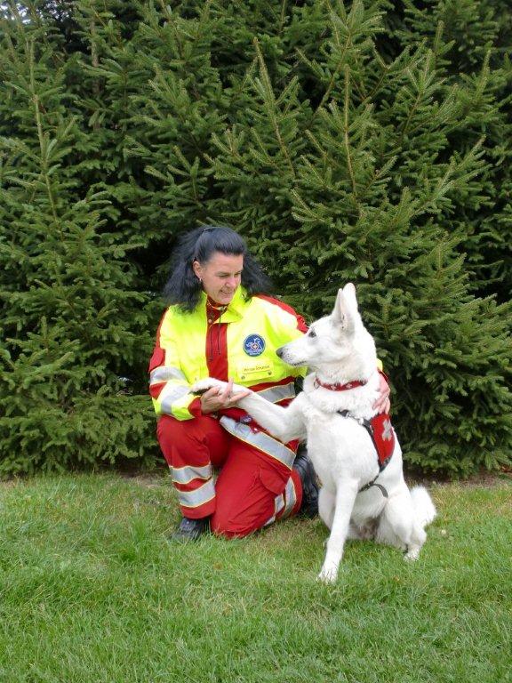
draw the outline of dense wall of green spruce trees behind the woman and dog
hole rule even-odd
[[[159,457],[176,238],[356,283],[405,461],[511,463],[505,0],[0,3],[0,474]]]

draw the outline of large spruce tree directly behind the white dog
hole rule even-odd
[[[310,116],[289,99],[293,81],[283,92],[262,87],[268,74],[260,64],[245,125],[239,120],[219,142],[216,178],[229,204],[243,206],[237,223],[264,237],[261,252],[286,254],[273,274],[290,301],[316,316],[337,286],[360,283],[396,388],[408,462],[464,473],[495,468],[509,458],[510,307],[473,297],[460,256],[469,233],[462,224],[446,229],[460,197],[477,200],[476,178],[487,169],[482,143],[446,155],[453,131],[467,123],[462,97],[444,88],[428,44],[385,62],[375,52],[379,30],[379,8],[354,2],[350,12],[329,15],[321,50],[300,48],[329,91],[317,94]],[[303,127],[287,139],[278,133],[290,120]],[[277,150],[274,157],[262,147]],[[273,162],[279,192],[259,192],[259,181],[272,182]],[[258,178],[250,197],[246,170]],[[268,216],[279,225],[272,237],[262,227]]]

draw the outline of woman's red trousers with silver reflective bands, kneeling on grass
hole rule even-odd
[[[245,536],[300,509],[299,474],[210,415],[185,421],[162,415],[156,433],[182,514],[211,517],[213,533]],[[287,446],[296,451],[297,442]],[[213,469],[220,469],[215,482]]]

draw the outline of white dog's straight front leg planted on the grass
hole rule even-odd
[[[334,583],[338,576],[338,567],[343,555],[343,546],[347,540],[356,495],[357,481],[339,482],[336,488],[336,509],[332,519],[331,535],[327,540],[324,565],[318,575],[318,579],[324,583]]]

